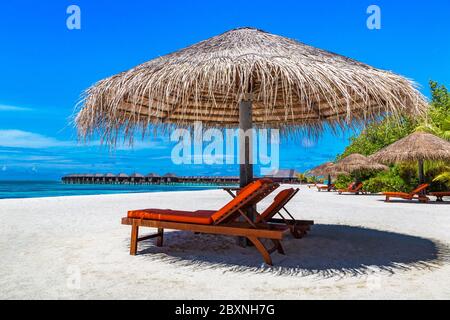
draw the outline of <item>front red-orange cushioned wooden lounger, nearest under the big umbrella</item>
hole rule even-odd
[[[161,209],[129,211],[128,216],[122,219],[122,224],[131,225],[130,254],[136,255],[138,242],[150,238],[157,238],[157,245],[162,246],[164,229],[188,230],[197,233],[246,237],[261,253],[264,261],[272,265],[270,255],[275,251],[284,254],[280,240],[290,232],[290,228],[278,224],[253,222],[245,214],[245,208],[254,206],[278,186],[268,179],[252,182],[217,211],[191,212]],[[243,217],[244,221],[236,221],[239,217]],[[139,227],[157,228],[158,232],[139,238]],[[274,246],[267,249],[261,239],[271,240]]]

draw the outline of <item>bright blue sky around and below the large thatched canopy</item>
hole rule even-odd
[[[81,30],[66,9],[81,8]],[[381,30],[366,9],[381,8]],[[241,26],[253,26],[412,78],[450,85],[448,0],[434,1],[3,1],[0,5],[0,179],[73,172],[237,174],[237,166],[177,166],[168,137],[119,150],[77,143],[69,123],[94,82]],[[283,141],[281,167],[333,159],[351,132]]]

